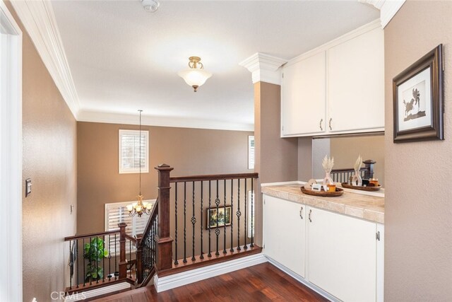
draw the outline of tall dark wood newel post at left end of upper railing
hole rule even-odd
[[[158,230],[155,241],[157,243],[157,260],[155,269],[162,271],[172,268],[172,238],[169,236],[169,173],[171,168],[163,163],[155,167],[158,170]]]

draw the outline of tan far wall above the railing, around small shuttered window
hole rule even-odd
[[[136,199],[138,174],[118,173],[118,132],[138,126],[77,124],[77,233],[82,234],[105,229],[105,203]],[[150,137],[149,173],[142,174],[141,185],[145,199],[157,197],[154,167],[160,163],[174,167],[172,176],[254,172],[248,170],[248,136],[253,132],[172,127],[143,127],[143,130],[149,130]]]

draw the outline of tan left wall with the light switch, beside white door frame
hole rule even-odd
[[[76,120],[6,6],[23,32],[23,180],[32,180],[22,205],[23,301],[51,301],[52,291],[65,289],[64,237],[76,231]]]

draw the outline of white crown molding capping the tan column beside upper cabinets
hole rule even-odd
[[[281,85],[281,69],[280,66],[287,62],[286,59],[256,52],[251,57],[244,59],[239,63],[251,71],[253,83],[266,82]]]

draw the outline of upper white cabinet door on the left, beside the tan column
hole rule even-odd
[[[282,136],[325,132],[325,52],[283,69]]]

